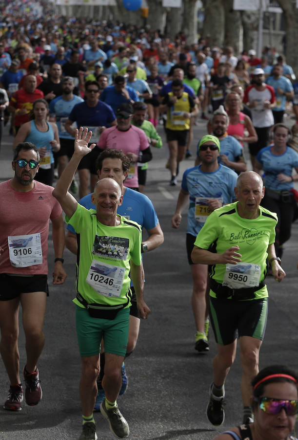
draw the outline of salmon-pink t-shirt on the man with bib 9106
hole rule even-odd
[[[52,196],[53,187],[35,180],[35,187],[26,193],[14,190],[11,180],[0,183],[0,273],[41,275],[48,273],[49,219],[60,216],[60,203]],[[8,237],[40,233],[42,263],[14,267],[9,259]]]

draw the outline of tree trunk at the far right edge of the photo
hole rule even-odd
[[[298,9],[296,1],[277,1],[284,12],[286,22],[286,63],[292,66],[295,73],[298,73]]]

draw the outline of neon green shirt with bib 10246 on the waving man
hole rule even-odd
[[[97,220],[94,209],[79,203],[73,216],[65,218],[77,232],[76,291],[88,304],[131,305],[130,260],[141,264],[141,227],[135,221],[118,218],[118,226],[106,226]],[[74,303],[83,307],[76,298]]]

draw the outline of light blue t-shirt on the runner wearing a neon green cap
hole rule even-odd
[[[197,236],[205,221],[199,221],[196,216],[196,198],[222,198],[224,204],[235,199],[234,188],[238,175],[228,167],[219,165],[213,173],[204,173],[200,165],[186,170],[182,177],[181,188],[189,193],[189,209],[187,234]],[[206,204],[201,201],[199,205]],[[199,214],[199,212],[197,212]],[[204,212],[203,212],[204,214]],[[205,217],[206,220],[207,216]]]

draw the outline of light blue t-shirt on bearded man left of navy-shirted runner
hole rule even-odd
[[[59,137],[62,139],[74,139],[66,130],[65,122],[68,119],[68,115],[76,104],[84,102],[83,98],[74,95],[71,101],[66,101],[62,96],[58,96],[50,102],[49,110],[50,115],[56,115],[56,124],[58,127]]]

